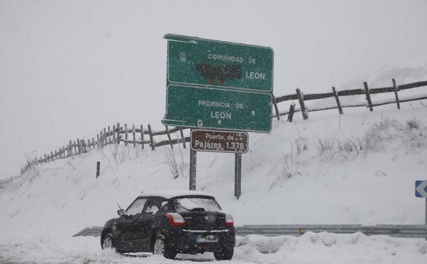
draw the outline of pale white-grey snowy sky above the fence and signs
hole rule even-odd
[[[427,1],[0,0],[0,178],[117,121],[163,129],[166,40],[274,49],[274,95],[427,62]],[[364,80],[360,80],[363,82]]]

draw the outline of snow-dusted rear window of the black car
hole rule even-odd
[[[182,197],[177,198],[177,211],[221,211],[221,207],[213,197]]]

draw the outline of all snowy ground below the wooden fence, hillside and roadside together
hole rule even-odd
[[[415,180],[426,179],[425,102],[310,113],[250,134],[242,196],[233,196],[233,154],[197,154],[197,189],[216,195],[235,225],[424,224]],[[180,175],[170,171],[172,153]],[[116,217],[141,191],[187,189],[188,145],[120,145],[31,169],[0,189],[0,256],[28,263],[166,263],[102,252],[99,238],[71,236]],[[95,178],[96,161],[101,176]],[[426,263],[423,239],[307,233],[239,238],[237,263]],[[202,259],[198,259],[198,258]],[[213,256],[183,255],[207,261]],[[1,259],[0,259],[1,262]]]

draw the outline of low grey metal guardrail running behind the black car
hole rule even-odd
[[[92,226],[77,232],[73,237],[101,235],[102,226]],[[299,237],[305,232],[333,232],[337,234],[352,234],[362,232],[367,236],[387,235],[390,237],[413,237],[427,238],[427,226],[425,225],[248,225],[236,226],[236,235],[244,237],[246,235],[263,235],[266,237],[276,237],[281,235]]]

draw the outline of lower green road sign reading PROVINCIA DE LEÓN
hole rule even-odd
[[[170,84],[164,125],[270,132],[272,95]]]

